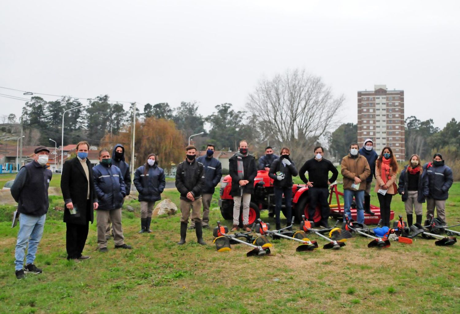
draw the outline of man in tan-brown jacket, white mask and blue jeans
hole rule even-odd
[[[371,174],[369,163],[366,157],[358,152],[358,144],[351,143],[350,153],[342,158],[340,172],[343,175],[344,187],[344,222],[345,215],[351,219],[351,202],[353,197],[356,200],[357,222],[364,224],[364,189],[365,184],[361,184]]]

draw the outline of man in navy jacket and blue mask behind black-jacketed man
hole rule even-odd
[[[214,145],[208,144],[206,147],[206,155],[196,158],[196,161],[203,164],[205,170],[205,183],[203,191],[201,191],[202,203],[203,203],[203,219],[201,226],[203,228],[209,228],[209,206],[213,199],[213,194],[216,186],[222,178],[222,164],[219,160],[213,157]],[[195,221],[190,222],[189,230],[195,229]]]

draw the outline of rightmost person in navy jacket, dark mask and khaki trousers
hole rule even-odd
[[[444,164],[443,156],[434,154],[433,161],[423,166],[428,174],[429,194],[426,198],[426,219],[434,215],[436,207],[437,219],[447,226],[446,199],[449,198],[449,189],[454,182],[452,169]]]

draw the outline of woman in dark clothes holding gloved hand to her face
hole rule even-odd
[[[290,150],[288,147],[281,149],[278,159],[270,166],[268,175],[272,178],[275,191],[275,219],[276,230],[281,229],[280,211],[283,202],[283,194],[286,208],[286,226],[291,225],[292,219],[292,177],[298,174],[295,164],[289,157]],[[277,174],[281,172],[282,174]]]

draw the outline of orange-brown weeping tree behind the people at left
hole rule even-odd
[[[110,147],[106,147],[110,150],[117,143],[123,144],[127,162],[130,163],[131,141],[132,125],[128,125],[120,134],[112,135],[111,139],[110,134],[106,134],[101,140],[101,144],[104,143],[103,146],[106,146],[106,143],[110,143]],[[172,120],[157,119],[151,116],[143,121],[138,121],[136,122],[134,168],[144,164],[147,156],[154,153],[157,155],[158,164],[161,168],[171,169],[173,164],[183,161],[185,144],[182,132],[176,128]]]

